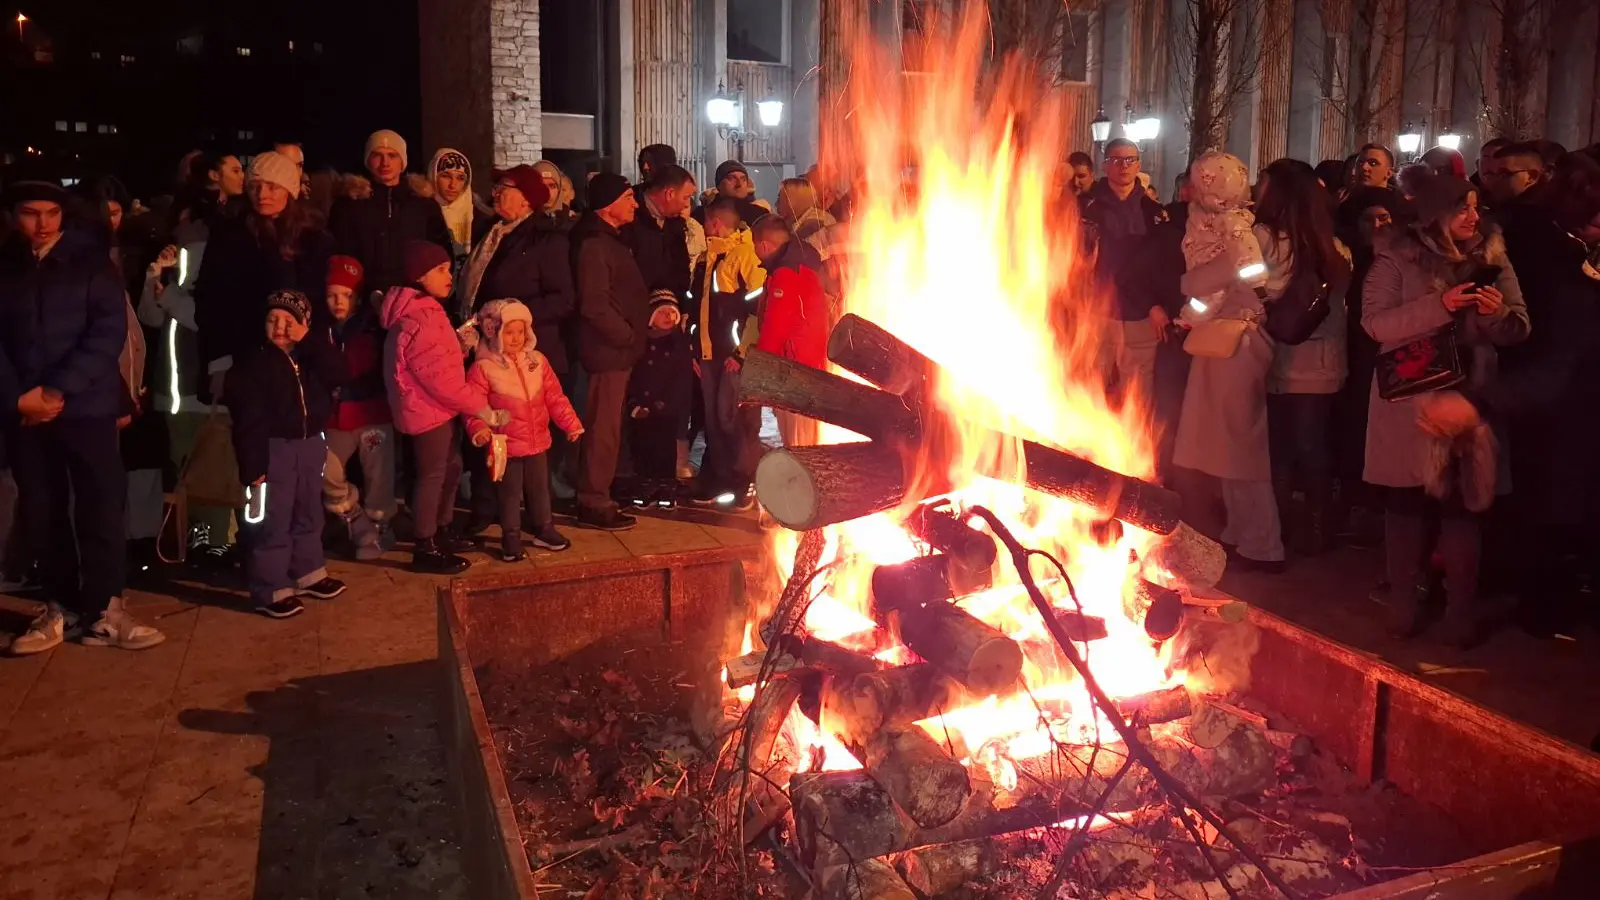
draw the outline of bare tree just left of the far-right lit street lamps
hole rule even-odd
[[[1438,34],[1443,3],[1421,0],[1421,14],[1413,14],[1411,37]],[[1344,125],[1344,147],[1355,147],[1382,138],[1384,125],[1398,115],[1405,85],[1432,58],[1421,51],[1421,42],[1408,42],[1406,3],[1403,0],[1320,0],[1317,3],[1318,45],[1302,48],[1307,69],[1317,82],[1322,101]],[[1408,46],[1416,43],[1418,46]],[[1416,51],[1411,51],[1416,50]]]

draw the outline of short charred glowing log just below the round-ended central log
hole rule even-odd
[[[966,703],[955,679],[931,663],[912,663],[853,679],[834,679],[822,700],[829,729],[845,743],[866,743],[886,725],[909,725]]]

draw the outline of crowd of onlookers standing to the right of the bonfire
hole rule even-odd
[[[1234,570],[1381,543],[1392,629],[1442,618],[1461,647],[1592,615],[1600,146],[1493,139],[1470,178],[1446,147],[1254,179],[1210,152],[1165,208],[1138,144],[1086,163],[1062,192],[1122,320],[1107,378],[1147,399],[1163,479]]]

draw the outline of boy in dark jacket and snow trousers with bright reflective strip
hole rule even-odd
[[[322,551],[322,429],[344,360],[326,333],[310,335],[310,301],[299,291],[267,298],[266,341],[227,373],[234,453],[245,485],[245,578],[256,612],[290,618],[301,596],[331,601],[344,581],[328,577]]]

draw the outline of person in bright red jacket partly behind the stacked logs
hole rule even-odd
[[[834,327],[827,295],[834,290],[822,256],[779,216],[762,216],[750,231],[766,269],[755,348],[827,368],[827,333]],[[813,420],[782,410],[776,416],[786,447],[816,444]]]

